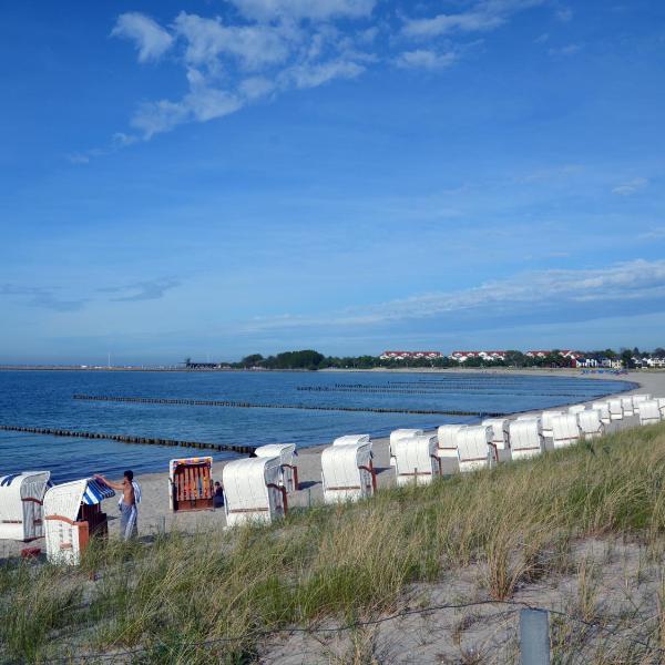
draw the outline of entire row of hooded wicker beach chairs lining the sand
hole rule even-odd
[[[443,424],[437,433],[398,429],[390,434],[390,464],[398,485],[427,484],[440,475],[492,468],[565,448],[633,424],[665,420],[665,398],[613,398],[567,410],[546,410],[515,419],[490,418],[480,424]],[[294,443],[257,448],[255,457],[234,460],[222,472],[228,526],[269,523],[286,515],[288,494],[298,490]],[[171,460],[172,511],[212,508],[212,457]],[[321,453],[324,501],[340,503],[371,497],[377,489],[369,434],[336,439]],[[103,499],[108,485],[82,479],[51,485],[48,471],[0,477],[0,539],[45,536],[50,561],[75,564],[91,535],[106,533]]]

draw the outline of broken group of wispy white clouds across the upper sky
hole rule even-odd
[[[489,30],[513,12],[543,0],[471,0],[467,12],[432,19],[405,19],[405,32],[440,34],[450,30]],[[388,40],[389,53],[375,41],[388,23],[368,24],[377,0],[228,0],[239,12],[205,18],[182,11],[168,29],[137,12],[122,14],[112,34],[133,40],[139,60],[157,60],[174,50],[188,91],[180,99],[142,102],[131,126],[117,133],[113,150],[139,137],[149,140],[187,122],[228,115],[268,95],[354,79],[377,62],[401,68],[441,70],[452,65],[466,45],[405,49]],[[344,20],[344,30],[335,21]],[[350,21],[360,21],[349,30]],[[395,35],[392,35],[395,37]],[[125,139],[126,137],[126,139]],[[89,158],[91,152],[83,155]],[[70,156],[76,161],[76,156]]]

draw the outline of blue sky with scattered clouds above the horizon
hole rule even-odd
[[[0,361],[665,346],[665,4],[0,25]]]

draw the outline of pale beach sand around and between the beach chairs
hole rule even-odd
[[[458,370],[459,371],[459,370]],[[503,370],[507,371],[507,370]],[[485,370],[487,374],[501,374],[501,370]],[[514,375],[514,371],[510,371]],[[525,372],[526,374],[526,372]],[[534,374],[554,375],[554,376],[574,376],[580,377],[579,371],[556,370],[531,370],[529,376]],[[586,378],[586,377],[585,377]],[[591,375],[590,379],[598,378],[607,380],[607,375]],[[627,391],[624,395],[633,392],[649,392],[655,397],[665,397],[665,372],[630,372],[621,377],[622,380],[634,381],[640,388]],[[563,406],[563,405],[562,405]],[[555,409],[556,407],[551,407]],[[628,419],[623,422],[622,428],[635,427],[638,424],[637,418]],[[351,432],[339,432],[339,436]],[[361,432],[358,432],[361,433]],[[374,463],[377,469],[378,485],[389,487],[395,484],[395,472],[389,463],[388,438],[372,439]],[[306,508],[314,503],[323,501],[321,489],[321,467],[320,453],[325,446],[303,448],[298,451],[296,458],[298,464],[298,475],[300,490],[288,497],[289,507]],[[202,452],[201,454],[205,454]],[[228,461],[216,462],[213,468],[214,480],[222,481],[222,469]],[[150,473],[136,477],[141,483],[142,502],[139,507],[139,532],[141,538],[151,536],[161,529],[166,531],[180,530],[188,533],[195,531],[205,531],[209,529],[221,529],[226,524],[224,509],[177,512],[172,513],[168,508],[168,473]],[[109,515],[109,532],[112,536],[120,533],[120,512],[117,509],[117,497],[108,499],[103,502],[103,510]],[[45,548],[43,539],[30,543],[31,546]],[[0,541],[0,560],[9,556],[16,556],[24,548],[24,543],[14,541]]]

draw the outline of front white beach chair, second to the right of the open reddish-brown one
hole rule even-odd
[[[337,443],[321,453],[324,501],[341,503],[371,497],[377,488],[371,442]]]

